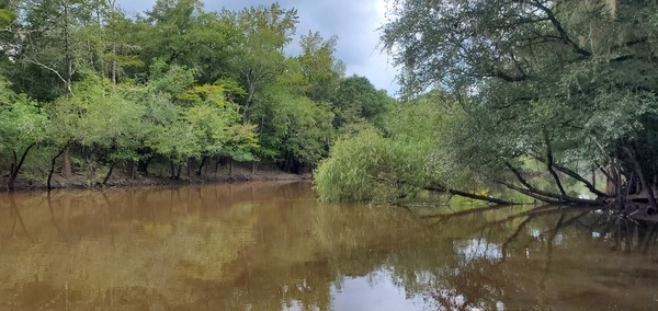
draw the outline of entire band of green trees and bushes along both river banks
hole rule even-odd
[[[52,186],[314,171],[327,200],[427,191],[658,210],[658,3],[393,0],[399,99],[345,77],[337,37],[279,4],[1,1],[0,169]],[[151,169],[151,172],[149,172]],[[510,192],[522,196],[510,196]]]

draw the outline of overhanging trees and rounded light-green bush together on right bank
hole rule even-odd
[[[334,145],[316,174],[322,198],[440,191],[658,211],[656,1],[389,4],[382,39],[405,103]]]

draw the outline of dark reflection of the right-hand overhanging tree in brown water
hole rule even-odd
[[[466,255],[416,286],[440,309],[648,310],[658,298],[656,223],[547,206],[473,228],[479,239],[453,252]]]

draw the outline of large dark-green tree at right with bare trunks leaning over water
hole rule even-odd
[[[655,1],[399,0],[383,41],[410,90],[460,94],[451,161],[547,203],[658,210]],[[523,165],[538,161],[549,185]],[[613,189],[594,187],[600,170]],[[569,192],[583,185],[588,198]]]

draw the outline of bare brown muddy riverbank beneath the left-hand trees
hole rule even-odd
[[[181,174],[179,178],[172,180],[164,170],[157,173],[144,175],[141,173],[128,174],[125,170],[114,170],[110,178],[102,183],[102,174],[91,175],[84,172],[76,172],[71,177],[61,174],[53,175],[53,188],[106,188],[106,187],[139,187],[159,185],[184,185],[184,184],[223,184],[240,183],[251,181],[296,181],[310,180],[310,174],[292,174],[274,168],[262,168],[252,171],[251,168],[235,165],[234,168],[218,168],[217,170],[204,170],[201,175],[192,173]],[[7,191],[7,176],[0,177],[2,191]],[[46,191],[47,177],[19,176],[15,191]]]

